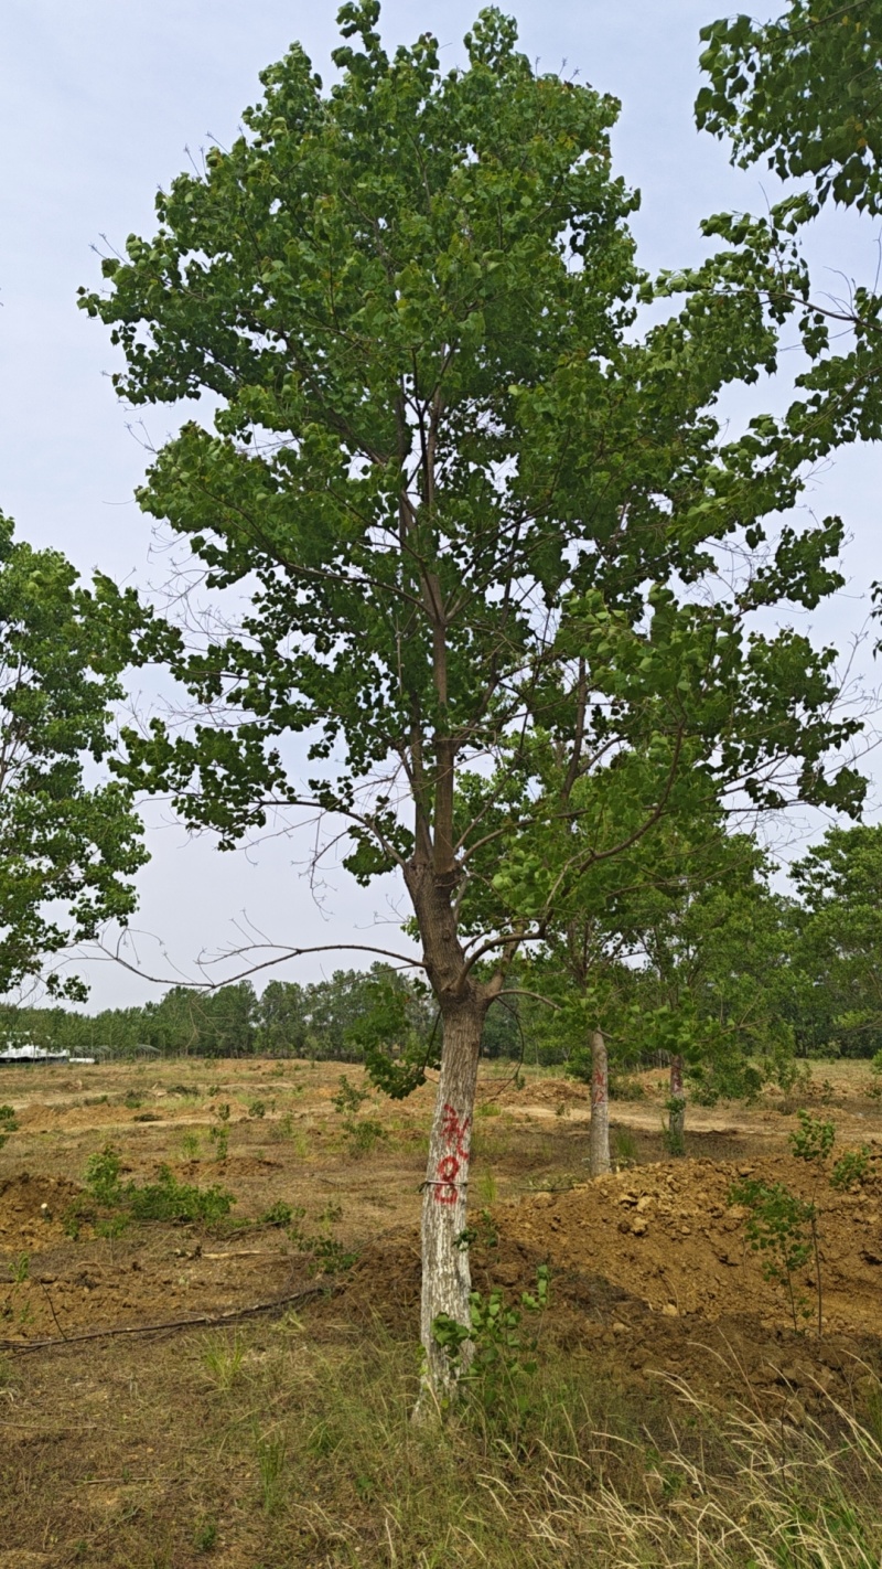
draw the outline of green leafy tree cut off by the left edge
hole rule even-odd
[[[132,593],[107,577],[80,587],[0,515],[0,993],[135,908],[141,824],[128,786],[91,783],[91,766],[111,750],[139,620]],[[77,977],[47,984],[85,996]]]

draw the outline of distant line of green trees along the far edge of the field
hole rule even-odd
[[[613,1068],[686,1059],[692,1095],[750,1094],[793,1059],[873,1058],[882,1050],[882,827],[832,828],[793,869],[794,894],[746,835],[714,841],[713,863],[685,844],[638,869],[634,893],[580,927],[583,984],[562,948],[530,963],[489,1009],[486,1058],[589,1072],[589,1020]],[[587,1001],[586,1001],[587,999]],[[291,1056],[363,1062],[431,1059],[434,1003],[390,965],[335,970],[301,985],[249,981],[202,993],[179,985],[158,1003],[105,1009],[5,1006],[9,1043],[163,1056]]]

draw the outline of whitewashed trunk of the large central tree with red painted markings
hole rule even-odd
[[[443,1009],[442,1067],[423,1189],[420,1338],[425,1365],[414,1414],[417,1420],[437,1412],[456,1387],[456,1370],[446,1351],[432,1337],[436,1318],[439,1313],[446,1313],[465,1327],[472,1323],[468,1304],[472,1272],[464,1232],[484,1012],[486,1004],[475,995]],[[470,1345],[465,1343],[461,1349],[459,1371],[465,1370],[468,1360]]]

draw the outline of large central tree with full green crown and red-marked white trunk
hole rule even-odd
[[[530,772],[537,719],[564,777],[603,774],[603,799],[624,802],[602,855],[714,756],[760,803],[793,758],[805,797],[848,803],[859,786],[826,777],[844,734],[832,654],[747,629],[755,607],[840,581],[835,522],[785,529],[763,555],[813,438],[796,450],[766,419],[724,442],[713,419],[727,380],[775,362],[763,303],[711,286],[639,337],[652,289],[609,169],[617,105],[536,74],[497,11],[446,75],[428,35],[389,58],[378,16],[376,0],[342,8],[356,44],[329,94],[299,47],[269,67],[244,133],[158,196],[154,240],[130,237],[81,303],[113,328],[127,400],[211,394],[213,430],[186,424],[139,502],[211,588],[252,596],[238,632],[188,646],[166,628],[194,723],[128,734],[125,777],[171,789],[222,847],[268,813],[318,808],[346,827],[356,877],[396,868],[410,897],[443,1036],[421,1307],[426,1389],[443,1392],[432,1324],[468,1324],[484,1018],[586,865],[577,847],[530,908],[462,926],[487,844],[517,839],[525,813],[558,817],[559,792]],[[711,585],[730,543],[754,557],[725,601]],[[291,734],[309,741],[307,784]],[[493,770],[517,789],[490,821],[473,781]]]

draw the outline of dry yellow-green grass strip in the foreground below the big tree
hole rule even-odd
[[[548,1345],[526,1411],[420,1431],[412,1343],[331,1312],[16,1360],[0,1541],[58,1569],[877,1569],[877,1403],[725,1418]]]

